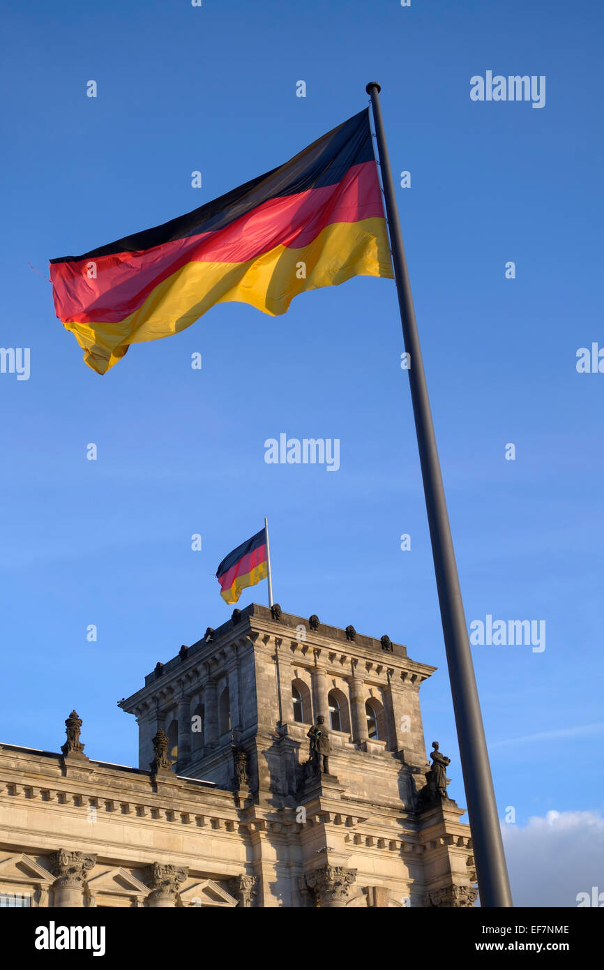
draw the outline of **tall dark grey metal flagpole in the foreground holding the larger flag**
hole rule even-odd
[[[460,743],[461,771],[472,833],[472,848],[476,861],[480,904],[481,906],[492,907],[512,906],[512,894],[497,818],[487,740],[467,638],[460,579],[436,450],[436,438],[432,425],[426,374],[424,373],[420,339],[411,297],[411,285],[398,221],[395,185],[384,136],[384,125],[378,98],[380,90],[377,81],[370,81],[366,85],[366,92],[371,97],[373,108],[377,151],[382,172],[382,185],[384,187],[397,281],[402,336],[405,351],[409,355],[408,372],[411,401],[422,466],[432,558],[447,651],[451,694],[453,695],[453,707]]]

